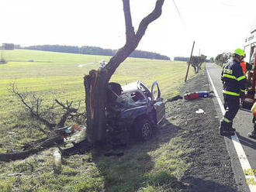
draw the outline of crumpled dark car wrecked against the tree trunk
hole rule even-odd
[[[165,105],[157,81],[152,84],[151,91],[141,81],[127,84],[116,96],[106,108],[109,129],[126,129],[137,139],[150,139],[157,124],[165,117]]]

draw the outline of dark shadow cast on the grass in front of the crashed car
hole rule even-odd
[[[161,146],[175,138],[179,129],[181,128],[164,120],[147,142],[130,139],[126,147],[112,149],[111,146],[104,146],[94,149],[92,161],[104,177],[105,190],[137,191],[142,187],[159,187],[177,180],[169,170],[155,171],[154,167],[157,156],[166,153],[160,150]],[[123,156],[104,156],[109,150],[123,153]]]

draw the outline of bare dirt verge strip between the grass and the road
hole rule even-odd
[[[209,91],[205,72],[188,81],[181,94],[186,91]],[[182,148],[192,151],[182,157],[191,163],[182,177],[190,186],[182,191],[237,191],[230,156],[223,137],[218,134],[220,122],[213,98],[175,101],[167,108],[168,120],[182,128],[181,137],[185,140]],[[199,108],[204,112],[196,114]]]

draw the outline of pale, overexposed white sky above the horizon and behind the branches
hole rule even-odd
[[[133,26],[156,0],[130,0]],[[176,5],[176,6],[175,6]],[[58,44],[119,49],[126,40],[122,0],[1,0],[0,44]],[[216,57],[244,47],[256,16],[255,0],[165,0],[137,50],[168,57]]]

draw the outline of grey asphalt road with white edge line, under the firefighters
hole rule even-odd
[[[222,94],[222,82],[220,80],[221,75],[221,68],[217,67],[213,63],[207,63],[206,64],[206,70],[209,74],[214,84],[214,87],[216,88],[217,94],[220,96],[220,100],[223,103],[223,94]],[[213,89],[213,86],[209,80],[210,88]],[[220,119],[223,118],[222,111],[220,108],[220,104],[217,101],[217,98],[214,98],[214,104],[216,107],[217,114]],[[256,140],[250,139],[247,137],[247,133],[251,132],[253,129],[252,124],[252,115],[250,111],[244,111],[240,109],[237,113],[236,118],[234,118],[234,128],[237,129],[237,136],[234,137],[224,137],[225,142],[227,145],[227,150],[230,154],[232,169],[234,171],[235,180],[237,183],[237,187],[239,191],[255,191],[256,192],[256,185],[250,185],[246,183],[246,178],[248,177],[244,176],[244,170],[243,168],[250,167],[251,169],[255,170],[256,174]],[[239,141],[236,142],[235,139],[239,139]],[[241,144],[241,148],[239,149],[239,142]],[[235,147],[235,145],[238,145]],[[243,153],[244,151],[244,153]],[[243,156],[244,154],[244,156]],[[255,178],[254,176],[251,176],[251,178]],[[256,180],[255,180],[256,182]],[[256,184],[256,183],[255,183]]]

